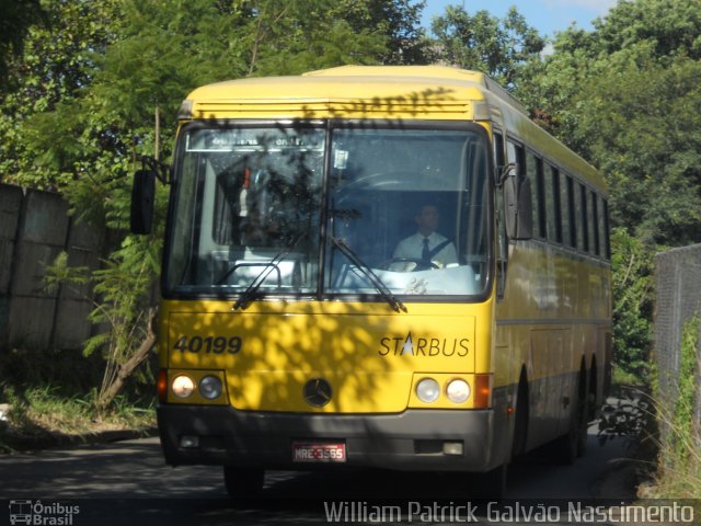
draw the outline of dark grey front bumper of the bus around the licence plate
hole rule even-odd
[[[290,414],[163,404],[158,408],[158,422],[165,460],[173,466],[476,472],[508,460],[507,419],[496,414],[493,410]],[[183,436],[197,437],[197,446],[182,447]],[[300,441],[345,443],[346,462],[292,462],[292,443]],[[461,442],[462,455],[445,454],[446,442]]]

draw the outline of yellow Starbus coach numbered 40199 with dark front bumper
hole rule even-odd
[[[505,90],[346,66],[205,85],[179,118],[170,465],[223,466],[231,496],[356,467],[482,473],[497,496],[515,455],[583,453],[610,376],[607,190]]]

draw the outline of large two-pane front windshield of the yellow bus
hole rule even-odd
[[[189,125],[165,293],[471,296],[487,285],[482,128]]]

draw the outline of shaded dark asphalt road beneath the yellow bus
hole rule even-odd
[[[551,518],[561,519],[552,524],[572,524],[564,515],[552,516],[556,506],[630,499],[625,483],[605,483],[627,456],[624,442],[616,438],[601,446],[595,433],[591,428],[587,455],[573,466],[553,465],[547,451],[512,465],[507,500],[499,505],[513,512],[513,504],[521,502],[533,513],[542,511],[539,504],[550,506]],[[518,521],[522,515],[487,513],[487,503],[471,503],[462,482],[426,473],[273,471],[261,499],[232,503],[220,468],[168,467],[158,439],[147,438],[0,456],[0,499],[7,503],[0,524],[12,518],[16,524],[26,518],[24,524],[77,526],[332,524],[329,506],[343,503],[348,504],[338,510],[346,514],[336,524],[528,523]],[[378,500],[388,506],[381,516],[372,515]],[[32,513],[43,518],[27,518]]]

